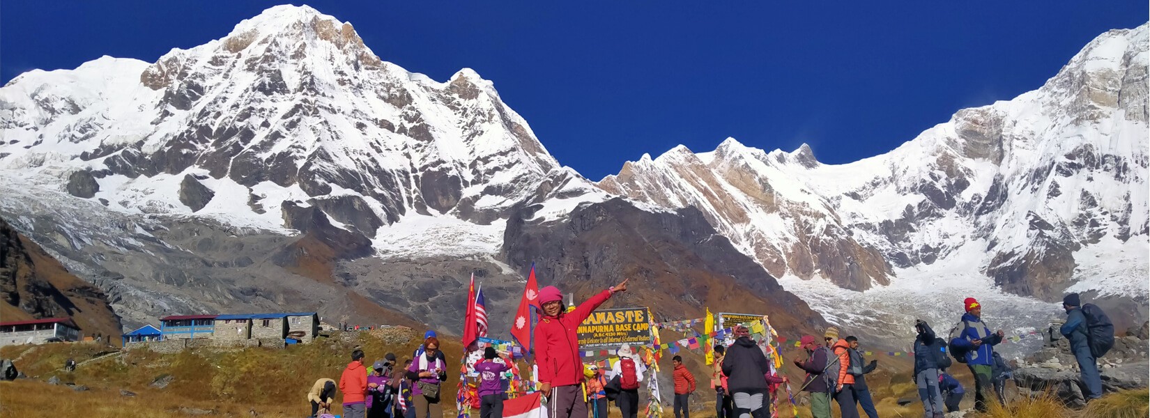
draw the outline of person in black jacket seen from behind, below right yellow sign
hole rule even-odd
[[[727,374],[727,387],[735,401],[737,418],[759,417],[767,393],[766,374],[770,373],[767,356],[750,335],[746,326],[736,326],[735,343],[722,358],[722,372]]]

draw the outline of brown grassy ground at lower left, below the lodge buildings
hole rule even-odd
[[[83,362],[97,354],[84,351],[85,346],[94,345],[60,343],[33,349],[5,347],[0,349],[0,355],[5,357],[21,357],[23,354],[15,363],[17,369],[30,372],[30,376],[43,373],[41,379],[57,376],[63,382],[84,385],[92,390],[72,393],[68,388],[40,384],[40,379],[5,384],[0,386],[0,404],[3,405],[0,415],[121,417],[125,415],[116,413],[130,412],[126,416],[167,417],[179,415],[179,407],[190,407],[244,417],[250,416],[250,409],[261,416],[296,417],[307,411],[306,393],[312,384],[320,378],[338,380],[353,349],[360,348],[367,354],[367,364],[383,358],[386,353],[394,353],[402,361],[411,357],[419,346],[419,336],[422,336],[421,331],[394,327],[362,333],[337,332],[330,338],[286,349],[200,349],[178,354],[140,349],[85,364],[71,373],[56,370],[59,359],[70,356]],[[462,351],[459,342],[444,339],[443,346],[448,367],[455,370]],[[163,376],[174,377],[167,388],[150,387]],[[448,373],[444,390],[445,409],[454,409],[458,378],[458,373]],[[120,396],[120,389],[135,392],[138,396],[124,398]],[[67,395],[68,402],[60,402],[55,397],[60,395]],[[83,409],[85,404],[91,404],[91,410]],[[78,410],[85,411],[85,415],[75,413]]]

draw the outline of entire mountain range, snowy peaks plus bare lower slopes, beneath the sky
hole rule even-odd
[[[637,301],[666,311],[782,305],[795,326],[822,318],[788,291],[873,330],[925,288],[1005,297],[1019,317],[1049,305],[999,289],[1144,304],[1147,57],[1145,25],[1107,32],[1042,88],[851,164],[728,139],[596,184],[474,71],[438,83],[350,23],[277,6],[155,63],[102,57],[0,88],[0,216],[128,325],[384,305],[454,327],[445,307],[478,271],[496,330],[534,261],[580,292],[628,274],[697,291]]]

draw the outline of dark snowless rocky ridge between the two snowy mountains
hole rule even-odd
[[[503,256],[523,270],[535,261],[539,286],[554,284],[585,299],[630,279],[634,292],[610,303],[647,305],[667,316],[657,320],[729,307],[769,315],[774,326],[796,334],[826,326],[692,208],[649,212],[616,198],[550,222],[532,220],[537,209],[524,207],[508,220]]]

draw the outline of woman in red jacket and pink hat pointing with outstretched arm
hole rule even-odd
[[[550,401],[552,418],[585,418],[583,362],[578,355],[578,325],[611,295],[627,291],[627,280],[591,296],[570,312],[564,312],[564,295],[554,286],[539,291],[543,318],[535,326],[535,357],[539,366],[539,390]]]

